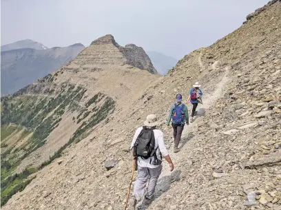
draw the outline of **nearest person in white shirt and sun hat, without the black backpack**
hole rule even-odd
[[[154,114],[150,114],[149,116],[147,116],[144,125],[145,127],[138,127],[138,129],[136,129],[136,133],[134,134],[134,138],[132,140],[131,149],[132,151],[134,150],[136,140],[138,139],[138,136],[141,134],[143,129],[153,129],[155,139],[154,149],[156,149],[156,154],[154,156],[150,156],[147,159],[141,156],[137,157],[138,178],[134,185],[134,197],[131,198],[129,202],[132,208],[136,206],[136,202],[141,201],[141,199],[143,198],[147,181],[149,182],[144,202],[149,203],[152,200],[157,180],[162,171],[162,157],[164,157],[167,162],[169,162],[171,171],[174,170],[174,164],[171,161],[171,158],[169,157],[168,151],[165,147],[163,132],[161,132],[160,129],[156,129],[156,126],[159,125],[157,116]],[[133,151],[133,156],[134,155],[136,154],[134,154]]]

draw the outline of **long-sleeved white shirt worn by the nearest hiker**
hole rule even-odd
[[[134,134],[134,138],[132,140],[132,144],[131,144],[131,150],[134,147],[134,143],[136,143],[136,138],[138,138],[138,135],[141,133],[141,130],[143,129],[143,127],[138,127],[138,129],[136,129],[136,133]],[[161,132],[159,129],[154,129],[154,138],[155,138],[155,146],[154,148],[156,149],[158,147],[158,149],[156,150],[156,156],[158,158],[158,160],[161,160],[161,155],[162,156],[167,156],[168,155],[168,151],[166,149],[165,143],[164,143],[164,135],[163,132]],[[160,155],[161,153],[161,155]],[[156,168],[159,165],[152,165],[149,162],[152,162],[154,160],[154,156],[147,158],[147,159],[143,159],[141,157],[138,157],[138,166],[140,167],[148,167],[148,168]]]

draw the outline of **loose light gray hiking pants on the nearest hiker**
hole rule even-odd
[[[145,195],[145,197],[148,199],[152,199],[161,171],[162,165],[159,165],[154,169],[138,166],[138,178],[136,179],[134,185],[134,196],[136,200],[140,201],[143,197],[143,194],[145,193],[145,185],[147,184],[148,179],[149,181],[147,186],[147,194]]]

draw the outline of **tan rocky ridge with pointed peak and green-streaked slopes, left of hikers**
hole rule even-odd
[[[130,46],[123,54],[111,41],[90,45],[59,70],[1,97],[1,205],[160,78],[148,71],[142,48]]]

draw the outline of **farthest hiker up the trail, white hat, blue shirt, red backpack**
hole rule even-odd
[[[187,98],[187,103],[190,103],[193,105],[192,112],[191,112],[191,120],[192,123],[194,121],[194,114],[196,112],[196,107],[198,106],[198,103],[202,103],[202,90],[200,90],[201,85],[199,85],[198,82],[196,82],[193,85],[193,88],[191,88],[189,96]],[[202,103],[203,104],[203,103]]]

